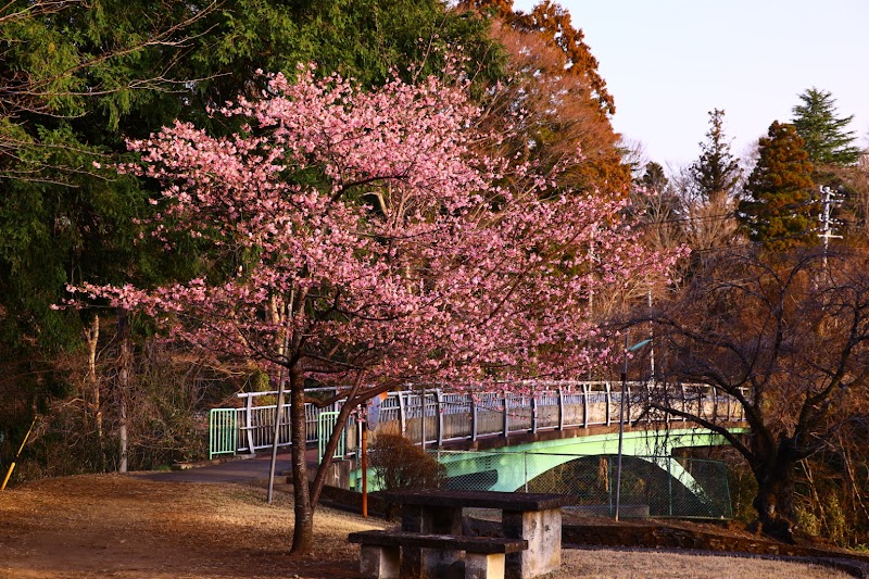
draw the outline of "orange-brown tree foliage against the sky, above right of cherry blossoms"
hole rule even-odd
[[[486,101],[483,119],[494,130],[518,119],[515,134],[498,142],[499,152],[563,166],[558,179],[567,188],[626,194],[630,167],[609,123],[614,100],[570,14],[549,1],[528,14],[514,12],[512,2],[461,5],[489,14],[492,38],[508,54],[508,77]]]

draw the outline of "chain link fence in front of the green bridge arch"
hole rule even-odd
[[[567,512],[580,516],[615,514],[617,456],[478,451],[436,453],[446,469],[446,488],[568,494],[575,503],[566,507]],[[625,455],[619,504],[621,518],[733,517],[727,466],[720,461]]]

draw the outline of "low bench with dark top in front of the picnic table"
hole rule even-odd
[[[352,532],[348,539],[362,546],[360,572],[377,579],[445,577],[461,552],[465,579],[504,579],[505,555],[528,549],[521,539],[406,531]]]

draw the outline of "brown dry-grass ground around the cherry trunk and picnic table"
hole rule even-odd
[[[350,578],[354,530],[382,528],[326,507],[317,509],[314,554],[299,561],[290,543],[291,501],[278,488],[273,505],[262,486],[156,482],[137,476],[48,479],[0,493],[0,577],[213,579]],[[660,577],[693,579],[835,579],[829,568],[733,557],[612,550],[565,550],[552,579]]]

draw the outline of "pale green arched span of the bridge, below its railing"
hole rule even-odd
[[[732,517],[727,469],[722,462],[682,456],[678,449],[727,444],[704,429],[628,428],[622,437],[622,517]],[[488,450],[429,450],[443,466],[445,486],[454,489],[572,494],[587,515],[613,516],[618,471],[618,431],[571,432],[569,437],[513,437]],[[733,426],[731,431],[745,429]],[[502,445],[503,444],[503,445]],[[350,487],[361,489],[360,469]],[[368,469],[368,489],[378,488]]]

